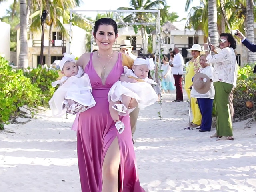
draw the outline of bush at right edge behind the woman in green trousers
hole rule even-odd
[[[245,120],[254,117],[256,112],[256,75],[253,74],[251,64],[238,70],[236,88],[233,93],[234,117]],[[253,107],[248,108],[246,102],[252,102]],[[254,117],[254,120],[256,118]]]

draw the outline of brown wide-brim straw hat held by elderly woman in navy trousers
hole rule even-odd
[[[201,77],[203,80],[200,80]],[[193,87],[200,94],[207,93],[211,88],[210,78],[206,74],[196,73],[193,78]]]

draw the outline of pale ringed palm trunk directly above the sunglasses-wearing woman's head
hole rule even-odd
[[[208,0],[209,37],[211,44],[218,45],[216,0]]]

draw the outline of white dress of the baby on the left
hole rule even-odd
[[[92,86],[89,76],[80,66],[78,66],[78,73],[75,76],[64,76],[60,80],[52,82],[53,87],[57,84],[60,84],[60,87],[49,101],[53,116],[60,117],[66,114],[66,109],[62,109],[62,102],[67,99],[82,106],[88,106],[86,110],[95,106],[96,102],[91,93]]]

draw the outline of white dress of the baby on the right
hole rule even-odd
[[[133,76],[134,78],[139,79],[132,70],[128,69],[124,66],[124,73],[122,75]],[[145,82],[116,82],[108,92],[108,101],[112,100],[114,102],[121,101],[122,102],[122,94],[134,98],[138,102],[138,107],[140,109],[150,106],[158,100],[158,96],[151,84],[157,84],[154,80],[146,77],[142,79]],[[131,111],[130,111],[131,112]]]

